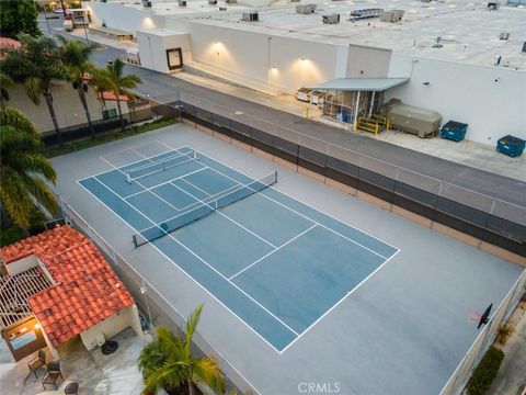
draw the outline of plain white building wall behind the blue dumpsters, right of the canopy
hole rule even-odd
[[[467,139],[491,146],[507,134],[526,139],[524,71],[393,54],[389,77],[411,80],[389,90],[386,100],[438,111],[444,123],[468,123]]]

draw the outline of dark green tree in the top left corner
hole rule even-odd
[[[4,0],[0,3],[0,36],[16,38],[25,33],[42,35],[38,29],[38,10],[33,0]]]

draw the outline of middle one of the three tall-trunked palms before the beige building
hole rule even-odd
[[[95,66],[90,61],[90,56],[99,48],[98,44],[84,44],[79,41],[68,41],[66,37],[58,35],[58,41],[62,44],[60,56],[68,71],[69,80],[73,83],[73,89],[79,93],[80,102],[84,108],[85,119],[90,127],[91,137],[95,138],[95,131],[91,122],[90,109],[85,100],[88,87],[93,83],[91,80],[85,81],[84,77],[93,74]]]

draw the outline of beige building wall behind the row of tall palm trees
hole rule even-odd
[[[52,90],[55,114],[60,128],[88,123],[79,94],[77,90],[71,87],[70,82],[53,84]],[[38,105],[34,104],[30,98],[27,98],[27,94],[25,94],[23,86],[19,83],[9,89],[9,97],[10,100],[8,104],[22,111],[33,122],[38,132],[54,133],[55,127],[53,126],[52,116],[49,115],[49,110],[44,97],[41,98]],[[93,89],[88,90],[85,99],[92,121],[102,120],[103,103],[96,98]],[[127,103],[123,102],[121,104],[123,114],[128,113]],[[116,101],[105,101],[105,109],[116,109]]]

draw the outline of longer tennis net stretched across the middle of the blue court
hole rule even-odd
[[[133,241],[135,248],[140,247],[149,241],[153,241],[161,238],[179,228],[186,226],[195,221],[204,218],[209,214],[216,212],[219,208],[226,207],[232,203],[239,202],[245,198],[261,192],[264,189],[275,184],[277,182],[277,171],[274,171],[259,180],[252,181],[248,184],[240,185],[227,194],[217,199],[208,199],[201,201],[202,205],[197,206],[186,213],[178,215],[158,225],[153,225],[138,234],[133,235]]]

